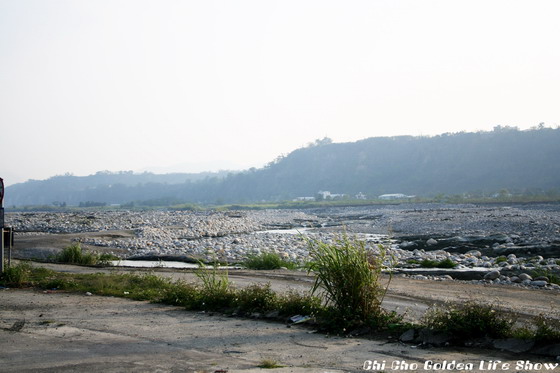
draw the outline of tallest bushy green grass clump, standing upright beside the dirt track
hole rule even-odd
[[[315,274],[312,293],[320,291],[328,307],[326,317],[333,319],[333,327],[387,324],[394,314],[381,308],[387,285],[381,283],[387,251],[379,246],[379,253],[366,249],[364,241],[343,235],[334,243],[309,240],[311,261],[309,270]]]

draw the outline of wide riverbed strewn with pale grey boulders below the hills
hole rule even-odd
[[[15,228],[16,241],[71,235],[85,247],[123,259],[218,258],[232,263],[262,252],[303,263],[309,258],[307,239],[334,242],[346,232],[374,251],[383,244],[397,268],[419,279],[465,278],[469,273],[477,281],[559,288],[554,283],[560,276],[560,204],[14,212],[6,214],[6,225]],[[123,231],[129,234],[111,234]],[[448,260],[456,267],[421,269],[427,260]]]

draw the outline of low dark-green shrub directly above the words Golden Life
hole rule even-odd
[[[455,339],[504,338],[511,334],[514,321],[493,305],[474,301],[435,307],[424,315],[430,329],[451,334]]]

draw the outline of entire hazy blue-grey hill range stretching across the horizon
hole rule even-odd
[[[7,188],[6,204],[148,199],[238,203],[316,196],[320,190],[347,195],[361,192],[369,198],[385,193],[476,195],[502,189],[558,192],[560,129],[497,127],[492,132],[375,137],[352,143],[325,139],[264,168],[239,173],[184,180],[175,175],[173,182],[163,181],[165,175],[153,175],[152,181],[136,184],[119,181],[120,174],[111,175],[115,178],[110,183],[90,179],[83,185],[76,182],[77,177],[58,176],[16,184]]]

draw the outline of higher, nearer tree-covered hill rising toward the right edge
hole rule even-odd
[[[545,192],[560,188],[560,129],[435,137],[376,137],[298,149],[254,173],[234,175],[224,193],[255,199],[313,196],[319,190],[368,197]]]

